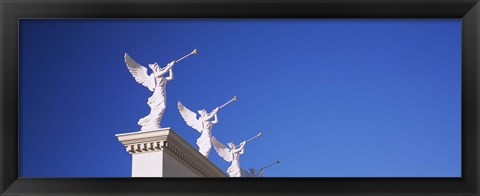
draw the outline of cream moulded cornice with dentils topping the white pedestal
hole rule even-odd
[[[178,136],[171,128],[123,133],[115,136],[125,146],[126,151],[132,155],[164,151],[202,176],[227,177],[222,170]]]

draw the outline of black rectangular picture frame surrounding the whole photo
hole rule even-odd
[[[480,194],[478,0],[0,0],[0,14],[1,195]],[[461,18],[462,177],[19,178],[18,25],[21,18]]]

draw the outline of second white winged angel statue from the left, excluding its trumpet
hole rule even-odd
[[[205,157],[208,157],[208,154],[212,148],[212,127],[214,124],[218,123],[218,109],[220,108],[217,107],[210,113],[208,113],[205,109],[198,110],[200,118],[197,119],[197,114],[195,112],[192,112],[183,106],[180,101],[178,102],[178,110],[180,111],[183,120],[185,120],[188,126],[201,133],[200,137],[197,139],[197,145],[199,147],[198,151]],[[210,121],[210,119],[213,117],[215,117],[215,120]]]

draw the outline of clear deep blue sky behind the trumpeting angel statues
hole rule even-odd
[[[140,130],[151,92],[129,53],[173,68],[162,126],[197,148],[177,102],[218,113],[268,177],[459,177],[459,19],[20,21],[20,176],[129,177],[115,134]],[[214,151],[222,170],[229,163]]]

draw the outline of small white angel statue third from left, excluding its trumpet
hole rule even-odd
[[[242,177],[242,169],[240,168],[240,155],[244,153],[243,148],[247,141],[240,143],[240,147],[236,147],[233,142],[229,142],[227,148],[221,142],[219,142],[215,137],[212,137],[213,147],[217,151],[218,155],[222,157],[227,162],[232,162],[230,167],[227,169],[227,173],[230,177]]]

